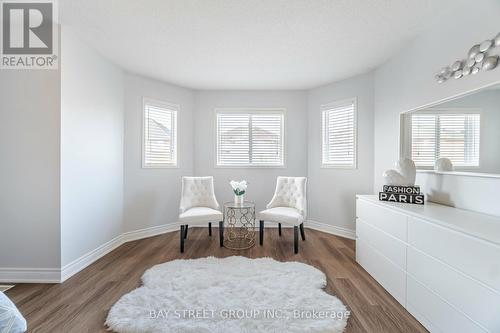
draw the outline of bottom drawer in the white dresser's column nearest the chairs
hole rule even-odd
[[[399,303],[406,303],[406,273],[362,239],[356,240],[356,261]]]

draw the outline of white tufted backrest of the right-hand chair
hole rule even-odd
[[[305,219],[307,216],[306,185],[306,177],[278,177],[274,196],[267,208],[295,208]]]

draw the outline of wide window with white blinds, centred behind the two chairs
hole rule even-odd
[[[217,166],[280,167],[284,110],[216,110]]]

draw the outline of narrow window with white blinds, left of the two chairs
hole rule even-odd
[[[144,99],[144,168],[177,166],[178,105]]]

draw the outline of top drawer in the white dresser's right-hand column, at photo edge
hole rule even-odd
[[[500,292],[500,247],[410,218],[408,243]]]

